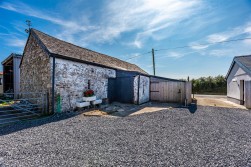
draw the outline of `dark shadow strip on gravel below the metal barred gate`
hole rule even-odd
[[[13,124],[0,126],[0,136],[14,133],[20,130],[41,126],[44,124],[61,121],[68,119],[74,116],[77,116],[77,113],[68,113],[68,114],[55,114],[47,117],[42,117],[38,119],[23,120]],[[1,165],[0,165],[1,166]]]

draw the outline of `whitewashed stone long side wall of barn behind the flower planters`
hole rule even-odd
[[[88,89],[88,80],[97,99],[107,98],[108,78],[115,77],[113,69],[56,59],[55,93],[60,94],[61,110],[64,112],[76,107],[76,102],[81,101],[83,92]]]

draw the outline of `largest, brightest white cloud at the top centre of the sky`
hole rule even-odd
[[[88,41],[105,42],[119,38],[122,33],[138,31],[131,42],[141,48],[144,40],[154,33],[183,19],[189,18],[199,7],[200,1],[184,0],[128,0],[110,1],[104,9],[100,29],[85,37]]]

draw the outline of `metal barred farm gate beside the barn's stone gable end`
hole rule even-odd
[[[47,113],[47,93],[4,93],[0,98],[0,125],[37,118]]]

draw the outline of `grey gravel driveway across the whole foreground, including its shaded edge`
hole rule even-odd
[[[65,117],[1,128],[0,166],[251,166],[250,111]]]

